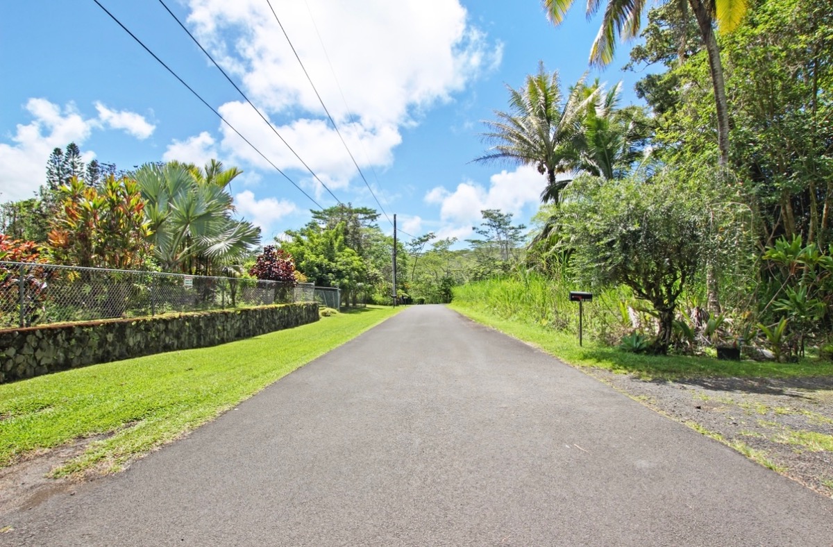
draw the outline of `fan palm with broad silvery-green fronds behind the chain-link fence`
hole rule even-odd
[[[260,242],[260,228],[232,218],[232,196],[219,184],[197,181],[187,165],[146,164],[135,178],[146,201],[153,250],[165,271],[209,270],[239,259]]]

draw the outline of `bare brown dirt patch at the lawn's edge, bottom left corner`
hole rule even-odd
[[[104,435],[88,437],[52,450],[40,450],[0,469],[0,514],[32,509],[61,492],[74,494],[82,478],[52,479],[49,475],[102,438]]]

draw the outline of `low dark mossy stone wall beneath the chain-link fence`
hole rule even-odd
[[[0,331],[0,383],[57,370],[217,346],[318,321],[314,302]]]

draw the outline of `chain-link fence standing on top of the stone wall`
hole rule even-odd
[[[315,286],[0,261],[0,328],[316,301]]]

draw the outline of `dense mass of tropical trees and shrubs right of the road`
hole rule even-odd
[[[571,1],[545,4],[557,23]],[[573,180],[561,182],[557,202],[541,206],[526,253],[508,272],[455,294],[561,329],[574,326],[563,295],[592,290],[601,296],[586,306],[594,309],[594,336],[611,346],[624,338],[631,351],[691,353],[729,344],[758,358],[792,360],[807,346],[826,355],[833,337],[827,4],[691,0],[651,8],[629,65],[655,66],[636,86],[648,108],[621,108],[616,87],[572,87],[571,96],[594,98],[576,98],[583,107],[571,138],[557,152],[539,150],[524,162],[559,157]],[[599,64],[611,60],[616,36],[639,32],[648,9],[595,1],[588,7],[604,10],[591,52]],[[511,94],[511,117],[526,122],[536,107],[522,106],[520,95]],[[493,136],[495,123],[487,127]],[[523,286],[541,297],[522,298]],[[476,287],[501,296],[484,299]],[[548,301],[549,294],[562,296]],[[498,305],[507,295],[540,311]]]

